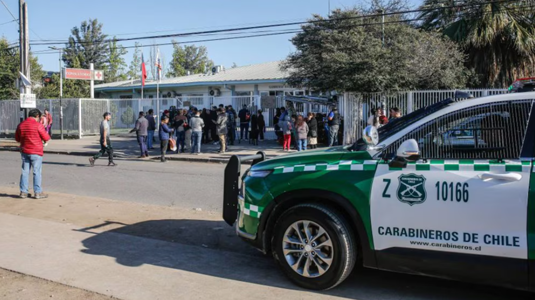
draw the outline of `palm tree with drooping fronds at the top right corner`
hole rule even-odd
[[[535,76],[532,0],[424,0],[420,9],[421,27],[458,42],[482,87]]]

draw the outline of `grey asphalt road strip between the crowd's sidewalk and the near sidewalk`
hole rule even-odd
[[[45,155],[43,190],[145,204],[220,211],[225,165],[106,158],[88,167],[88,157]],[[18,186],[20,154],[0,151],[0,186]],[[31,186],[32,184],[30,184]]]

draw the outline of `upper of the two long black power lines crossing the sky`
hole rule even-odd
[[[483,2],[483,3],[472,3],[472,4],[463,4],[463,5],[450,5],[450,6],[442,6],[440,7],[441,10],[444,9],[455,9],[455,8],[462,8],[462,7],[471,7],[471,6],[482,6],[486,4],[493,4],[493,3],[506,3],[506,2],[512,2],[512,1],[518,1],[518,0],[495,0],[495,1],[489,1],[489,2]],[[309,20],[309,21],[300,21],[300,22],[287,22],[287,23],[281,23],[281,24],[273,24],[273,25],[262,25],[262,26],[250,26],[250,27],[239,27],[239,28],[229,28],[229,29],[217,29],[212,31],[200,31],[200,32],[191,32],[191,33],[175,33],[175,34],[165,34],[165,35],[152,35],[152,36],[140,36],[136,38],[125,38],[125,39],[116,39],[116,41],[133,41],[133,40],[147,40],[147,39],[163,39],[163,38],[178,38],[178,37],[184,37],[184,36],[190,36],[190,35],[199,35],[199,34],[207,34],[207,33],[221,33],[221,32],[232,32],[232,31],[243,31],[243,30],[250,30],[250,29],[261,29],[261,28],[270,28],[270,27],[282,27],[282,26],[291,26],[291,25],[303,25],[303,24],[314,24],[318,22],[332,22],[332,21],[340,21],[340,20],[348,20],[348,19],[361,19],[361,18],[373,18],[373,17],[382,17],[382,16],[394,16],[397,14],[408,14],[408,13],[415,13],[415,12],[424,12],[424,11],[432,11],[437,10],[436,7],[430,7],[427,9],[416,9],[416,10],[406,10],[406,11],[399,11],[399,12],[386,12],[386,13],[378,13],[378,14],[368,14],[365,16],[355,16],[355,17],[346,17],[346,18],[338,18],[338,19],[323,19],[323,20]],[[75,43],[103,43],[103,42],[111,42],[114,41],[113,39],[110,40],[102,40],[102,41],[80,41]],[[62,44],[67,43],[68,40],[64,40],[63,42],[46,42],[46,43],[33,43],[34,46],[37,45],[54,45],[54,44]]]

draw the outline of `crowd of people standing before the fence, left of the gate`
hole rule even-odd
[[[262,110],[251,114],[246,105],[236,112],[230,106],[220,104],[211,109],[198,110],[195,107],[189,109],[176,109],[171,107],[163,112],[160,117],[158,138],[161,142],[161,161],[166,162],[167,151],[175,153],[201,154],[201,145],[213,143],[219,145],[218,153],[224,154],[229,145],[234,145],[236,140],[236,120],[239,121],[240,140],[249,139],[254,145],[258,145],[258,139],[264,140],[266,123]],[[106,118],[104,118],[106,121]],[[103,123],[105,123],[103,121]],[[105,124],[101,124],[102,127]],[[109,124],[108,124],[109,126]],[[135,127],[130,132],[136,132],[137,142],[140,145],[139,158],[148,157],[148,151],[154,149],[154,135],[156,131],[156,121],[154,110],[149,109],[147,114],[141,111],[139,118],[135,122]],[[103,138],[101,137],[101,140]],[[104,138],[105,140],[105,138]],[[103,149],[107,149],[104,147]],[[90,160],[91,164],[98,159],[97,155]]]

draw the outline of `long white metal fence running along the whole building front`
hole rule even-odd
[[[506,93],[506,89],[476,89],[467,90],[476,97]],[[392,107],[401,109],[402,114],[408,114],[416,109],[452,97],[455,91],[409,91],[393,94],[349,94],[339,97],[339,112],[343,117],[345,144],[352,144],[361,137],[362,130],[372,108],[384,106],[386,113]],[[276,108],[262,107],[260,96],[188,96],[161,99],[63,99],[63,128],[67,136],[81,138],[98,134],[100,122],[104,112],[109,111],[112,134],[124,133],[135,124],[139,111],[154,109],[155,116],[161,116],[163,111],[171,106],[188,108],[190,105],[198,109],[210,109],[212,106],[232,105],[238,112],[243,106],[255,112],[262,109],[266,122],[266,139],[276,139],[274,116]],[[323,104],[294,102],[297,114],[306,115],[308,112],[327,114],[330,107]],[[276,107],[285,107],[284,96],[277,96]],[[52,133],[59,134],[60,105],[58,99],[37,100],[37,108],[50,110],[53,117]],[[0,101],[0,134],[13,134],[20,122],[20,101]],[[236,119],[239,128],[239,119]]]

